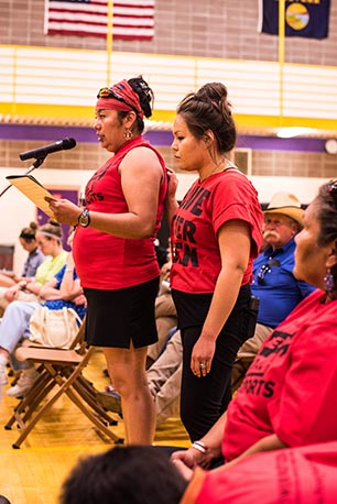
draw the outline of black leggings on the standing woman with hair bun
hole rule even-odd
[[[231,399],[231,369],[239,348],[248,338],[250,286],[241,287],[237,303],[216,342],[210,372],[197,377],[191,370],[193,347],[202,326],[181,330],[183,377],[181,417],[192,441],[200,439],[218,420]]]

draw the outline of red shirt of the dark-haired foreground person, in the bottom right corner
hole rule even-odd
[[[181,504],[335,504],[337,442],[275,450],[216,471],[197,469]]]

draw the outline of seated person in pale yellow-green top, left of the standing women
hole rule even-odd
[[[36,231],[36,243],[48,258],[37,267],[35,277],[25,277],[12,287],[0,289],[0,307],[4,310],[13,300],[39,302],[41,287],[58,272],[66,262],[67,252],[62,245],[62,228],[50,220]]]

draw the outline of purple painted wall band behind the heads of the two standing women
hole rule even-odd
[[[74,138],[79,143],[96,143],[96,133],[91,128],[46,127],[29,124],[0,124],[2,140],[36,140],[56,142],[64,138]],[[153,145],[170,146],[173,140],[171,131],[149,131],[145,138]],[[325,152],[324,139],[239,135],[237,147],[257,151],[297,151]]]

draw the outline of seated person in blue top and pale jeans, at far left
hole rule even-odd
[[[45,299],[42,303],[42,299]],[[7,382],[6,364],[22,338],[30,337],[30,318],[41,306],[50,309],[73,308],[80,318],[85,316],[86,299],[83,295],[79,278],[74,270],[73,254],[67,256],[66,264],[59,272],[46,282],[40,292],[40,303],[13,302],[7,308],[0,326],[0,381]],[[14,397],[22,397],[37,377],[34,366],[28,363],[18,363],[12,357],[14,370],[22,370],[18,383],[7,391]]]

